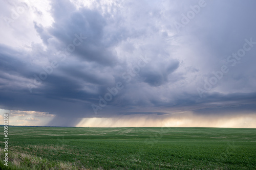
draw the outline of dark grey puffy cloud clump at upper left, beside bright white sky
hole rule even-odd
[[[51,35],[61,42],[72,42],[75,34],[81,34],[87,39],[77,47],[74,54],[84,60],[95,61],[103,65],[115,63],[115,56],[102,42],[105,20],[97,11],[81,9],[64,18],[55,21],[49,30]]]

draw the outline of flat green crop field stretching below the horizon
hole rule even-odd
[[[256,129],[9,127],[8,168],[3,138],[1,169],[256,169]]]

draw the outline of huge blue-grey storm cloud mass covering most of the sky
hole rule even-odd
[[[49,112],[57,115],[49,125],[59,119],[56,125],[65,126],[75,126],[82,117],[255,112],[256,46],[236,66],[226,60],[245,39],[256,41],[250,19],[255,2],[205,2],[175,34],[173,22],[180,22],[181,14],[198,1],[122,2],[101,8],[52,1],[53,23],[30,23],[42,43],[31,43],[30,50],[0,45],[1,108]],[[77,36],[86,38],[62,60]],[[141,56],[150,59],[143,66]],[[53,61],[58,67],[35,83],[35,75]],[[229,72],[200,98],[197,88],[224,64]],[[96,115],[92,104],[99,106],[117,82],[123,88]],[[33,84],[32,93],[28,84]],[[73,123],[68,123],[71,117]]]

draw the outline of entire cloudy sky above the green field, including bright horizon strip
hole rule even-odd
[[[0,121],[256,128],[255,6],[1,0]]]

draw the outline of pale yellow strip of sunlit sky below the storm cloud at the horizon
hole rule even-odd
[[[82,118],[76,127],[215,127],[256,128],[256,115],[126,115],[111,118]]]

